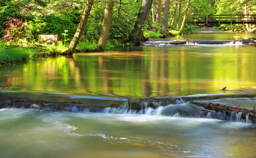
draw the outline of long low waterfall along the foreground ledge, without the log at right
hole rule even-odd
[[[197,99],[198,96],[196,96]],[[202,97],[202,95],[200,95]],[[112,99],[116,101],[116,99]],[[254,100],[254,99],[253,99]],[[220,112],[203,107],[198,107],[191,101],[190,97],[163,97],[163,98],[140,98],[140,99],[119,99],[118,102],[104,104],[82,104],[82,103],[38,103],[31,104],[28,101],[26,109],[39,109],[45,111],[70,111],[73,113],[111,113],[111,114],[126,114],[126,115],[162,115],[170,117],[194,117],[194,118],[208,118],[208,119],[220,119],[230,120],[233,122],[247,122],[255,123],[255,119],[252,119],[251,113],[247,114],[243,112]],[[235,100],[237,101],[237,100]],[[21,101],[22,102],[22,101]],[[17,106],[13,101],[13,105],[10,102],[5,105],[4,108],[21,108]],[[106,103],[106,104],[105,104]]]

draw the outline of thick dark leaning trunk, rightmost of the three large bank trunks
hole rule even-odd
[[[145,24],[149,10],[151,8],[153,0],[142,0],[142,5],[140,7],[140,13],[138,14],[138,20],[134,24],[134,30],[132,31],[132,43],[134,45],[140,44],[140,39],[142,39],[142,26]]]

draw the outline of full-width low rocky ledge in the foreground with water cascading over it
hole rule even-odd
[[[217,96],[220,98],[220,96]],[[216,98],[217,98],[216,97]],[[246,97],[246,96],[245,96]],[[216,99],[215,98],[215,99]],[[246,97],[255,99],[255,97]],[[200,100],[200,99],[203,99]],[[209,100],[210,98],[208,98]],[[239,97],[237,97],[239,99]],[[175,117],[196,117],[220,120],[256,122],[256,110],[250,108],[207,103],[204,97],[166,97],[127,99],[122,104],[93,104],[79,102],[51,102],[24,98],[6,97],[0,99],[0,109],[38,109],[44,111],[70,111],[86,113],[124,113],[164,115]],[[214,102],[214,99],[210,99]]]

